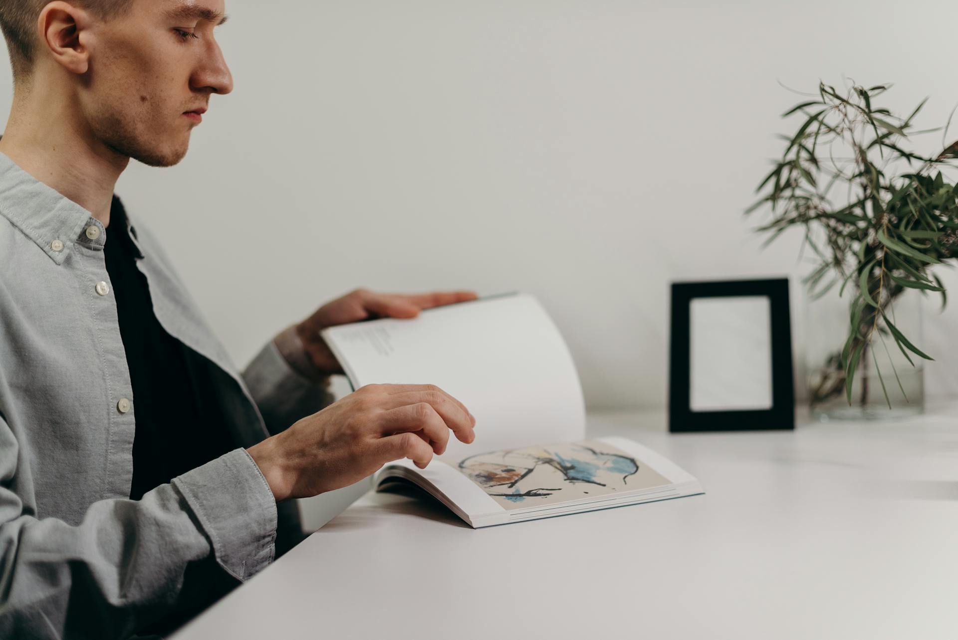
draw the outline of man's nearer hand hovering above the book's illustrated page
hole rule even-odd
[[[424,469],[450,429],[471,443],[474,426],[435,385],[367,384],[247,450],[280,502],[348,487],[400,458]]]

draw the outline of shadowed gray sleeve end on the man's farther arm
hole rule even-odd
[[[273,340],[256,354],[242,377],[272,434],[283,431],[335,400],[329,377],[315,381],[297,373]]]

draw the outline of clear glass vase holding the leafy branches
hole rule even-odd
[[[855,367],[851,402],[842,367],[842,350],[852,331],[853,286],[839,297],[837,287],[806,301],[805,366],[812,419],[892,420],[924,412],[924,359],[904,353],[880,313],[866,307],[858,323],[864,342]],[[884,314],[901,334],[922,349],[922,295],[916,289],[893,292]]]

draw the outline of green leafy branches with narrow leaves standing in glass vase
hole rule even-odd
[[[867,367],[877,336],[894,340],[912,366],[915,357],[932,359],[902,334],[888,311],[906,289],[940,293],[943,305],[947,302],[945,286],[930,267],[958,251],[958,186],[941,171],[958,157],[958,143],[946,146],[943,140],[945,149],[930,157],[916,152],[910,136],[942,129],[914,130],[927,99],[906,118],[879,107],[875,99],[890,87],[855,85],[839,92],[820,83],[812,100],[784,113],[801,117],[801,126],[783,136],[782,159],[745,212],[767,213],[757,229],[769,235],[765,244],[790,228],[804,231],[804,246],[816,260],[804,280],[813,300],[833,287],[839,295],[848,292],[849,333],[840,353],[830,357],[833,375],[811,390],[812,403],[843,391],[852,403],[855,372],[859,363],[862,370]],[[944,130],[947,135],[947,125]],[[872,360],[891,408],[874,351]],[[894,363],[892,368],[904,395]],[[864,403],[867,377],[862,384]]]

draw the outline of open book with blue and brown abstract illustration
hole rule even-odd
[[[323,330],[354,389],[436,384],[475,416],[425,468],[399,460],[377,490],[410,482],[472,527],[701,493],[696,479],[625,438],[585,439],[582,387],[535,297],[511,293]]]

